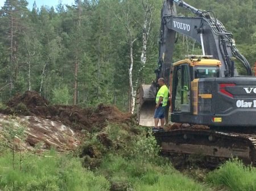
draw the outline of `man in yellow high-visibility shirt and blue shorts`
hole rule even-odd
[[[160,86],[160,89],[158,90],[158,94],[155,98],[155,114],[154,114],[154,120],[155,120],[155,127],[152,128],[152,130],[163,130],[164,126],[164,112],[166,111],[166,105],[168,101],[168,88],[164,82],[164,78],[158,79],[158,84]],[[158,122],[161,122],[161,127],[158,128]]]

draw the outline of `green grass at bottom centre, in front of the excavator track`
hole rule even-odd
[[[156,165],[146,162],[143,166],[137,159],[125,159],[118,155],[106,156],[96,173],[104,175],[116,189],[119,186],[117,190],[210,190],[207,186],[183,176],[170,163]]]

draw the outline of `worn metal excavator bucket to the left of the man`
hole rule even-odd
[[[155,95],[154,84],[141,85],[137,94],[137,118],[139,125],[154,126]]]

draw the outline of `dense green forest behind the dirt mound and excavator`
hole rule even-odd
[[[94,107],[106,103],[131,111],[140,84],[155,80],[162,3],[77,0],[73,6],[59,1],[56,7],[37,7],[35,2],[28,10],[26,0],[5,1],[0,10],[1,101],[32,90],[54,104]],[[187,3],[213,11],[254,66],[253,0]],[[180,8],[177,12],[193,16]],[[200,53],[200,49],[195,41],[180,35],[173,62],[185,54]]]

